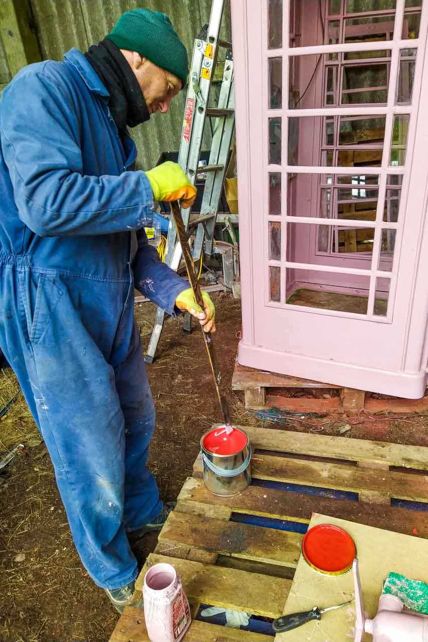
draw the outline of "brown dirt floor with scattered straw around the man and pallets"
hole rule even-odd
[[[245,412],[242,395],[230,388],[241,328],[240,302],[225,293],[213,299],[217,307],[215,343],[236,424],[428,446],[425,415],[298,415],[281,426]],[[152,304],[136,306],[145,345],[154,313]],[[157,408],[150,466],[163,498],[174,500],[192,474],[201,434],[221,421],[199,329],[185,334],[181,321],[168,319],[157,359],[148,372]],[[16,390],[10,370],[4,370],[1,406]],[[315,390],[314,395],[318,394]],[[25,444],[24,451],[0,473],[0,642],[105,641],[118,614],[78,558],[48,453],[22,395],[0,419],[0,459],[20,442]],[[154,546],[156,537],[150,536],[147,553]]]

